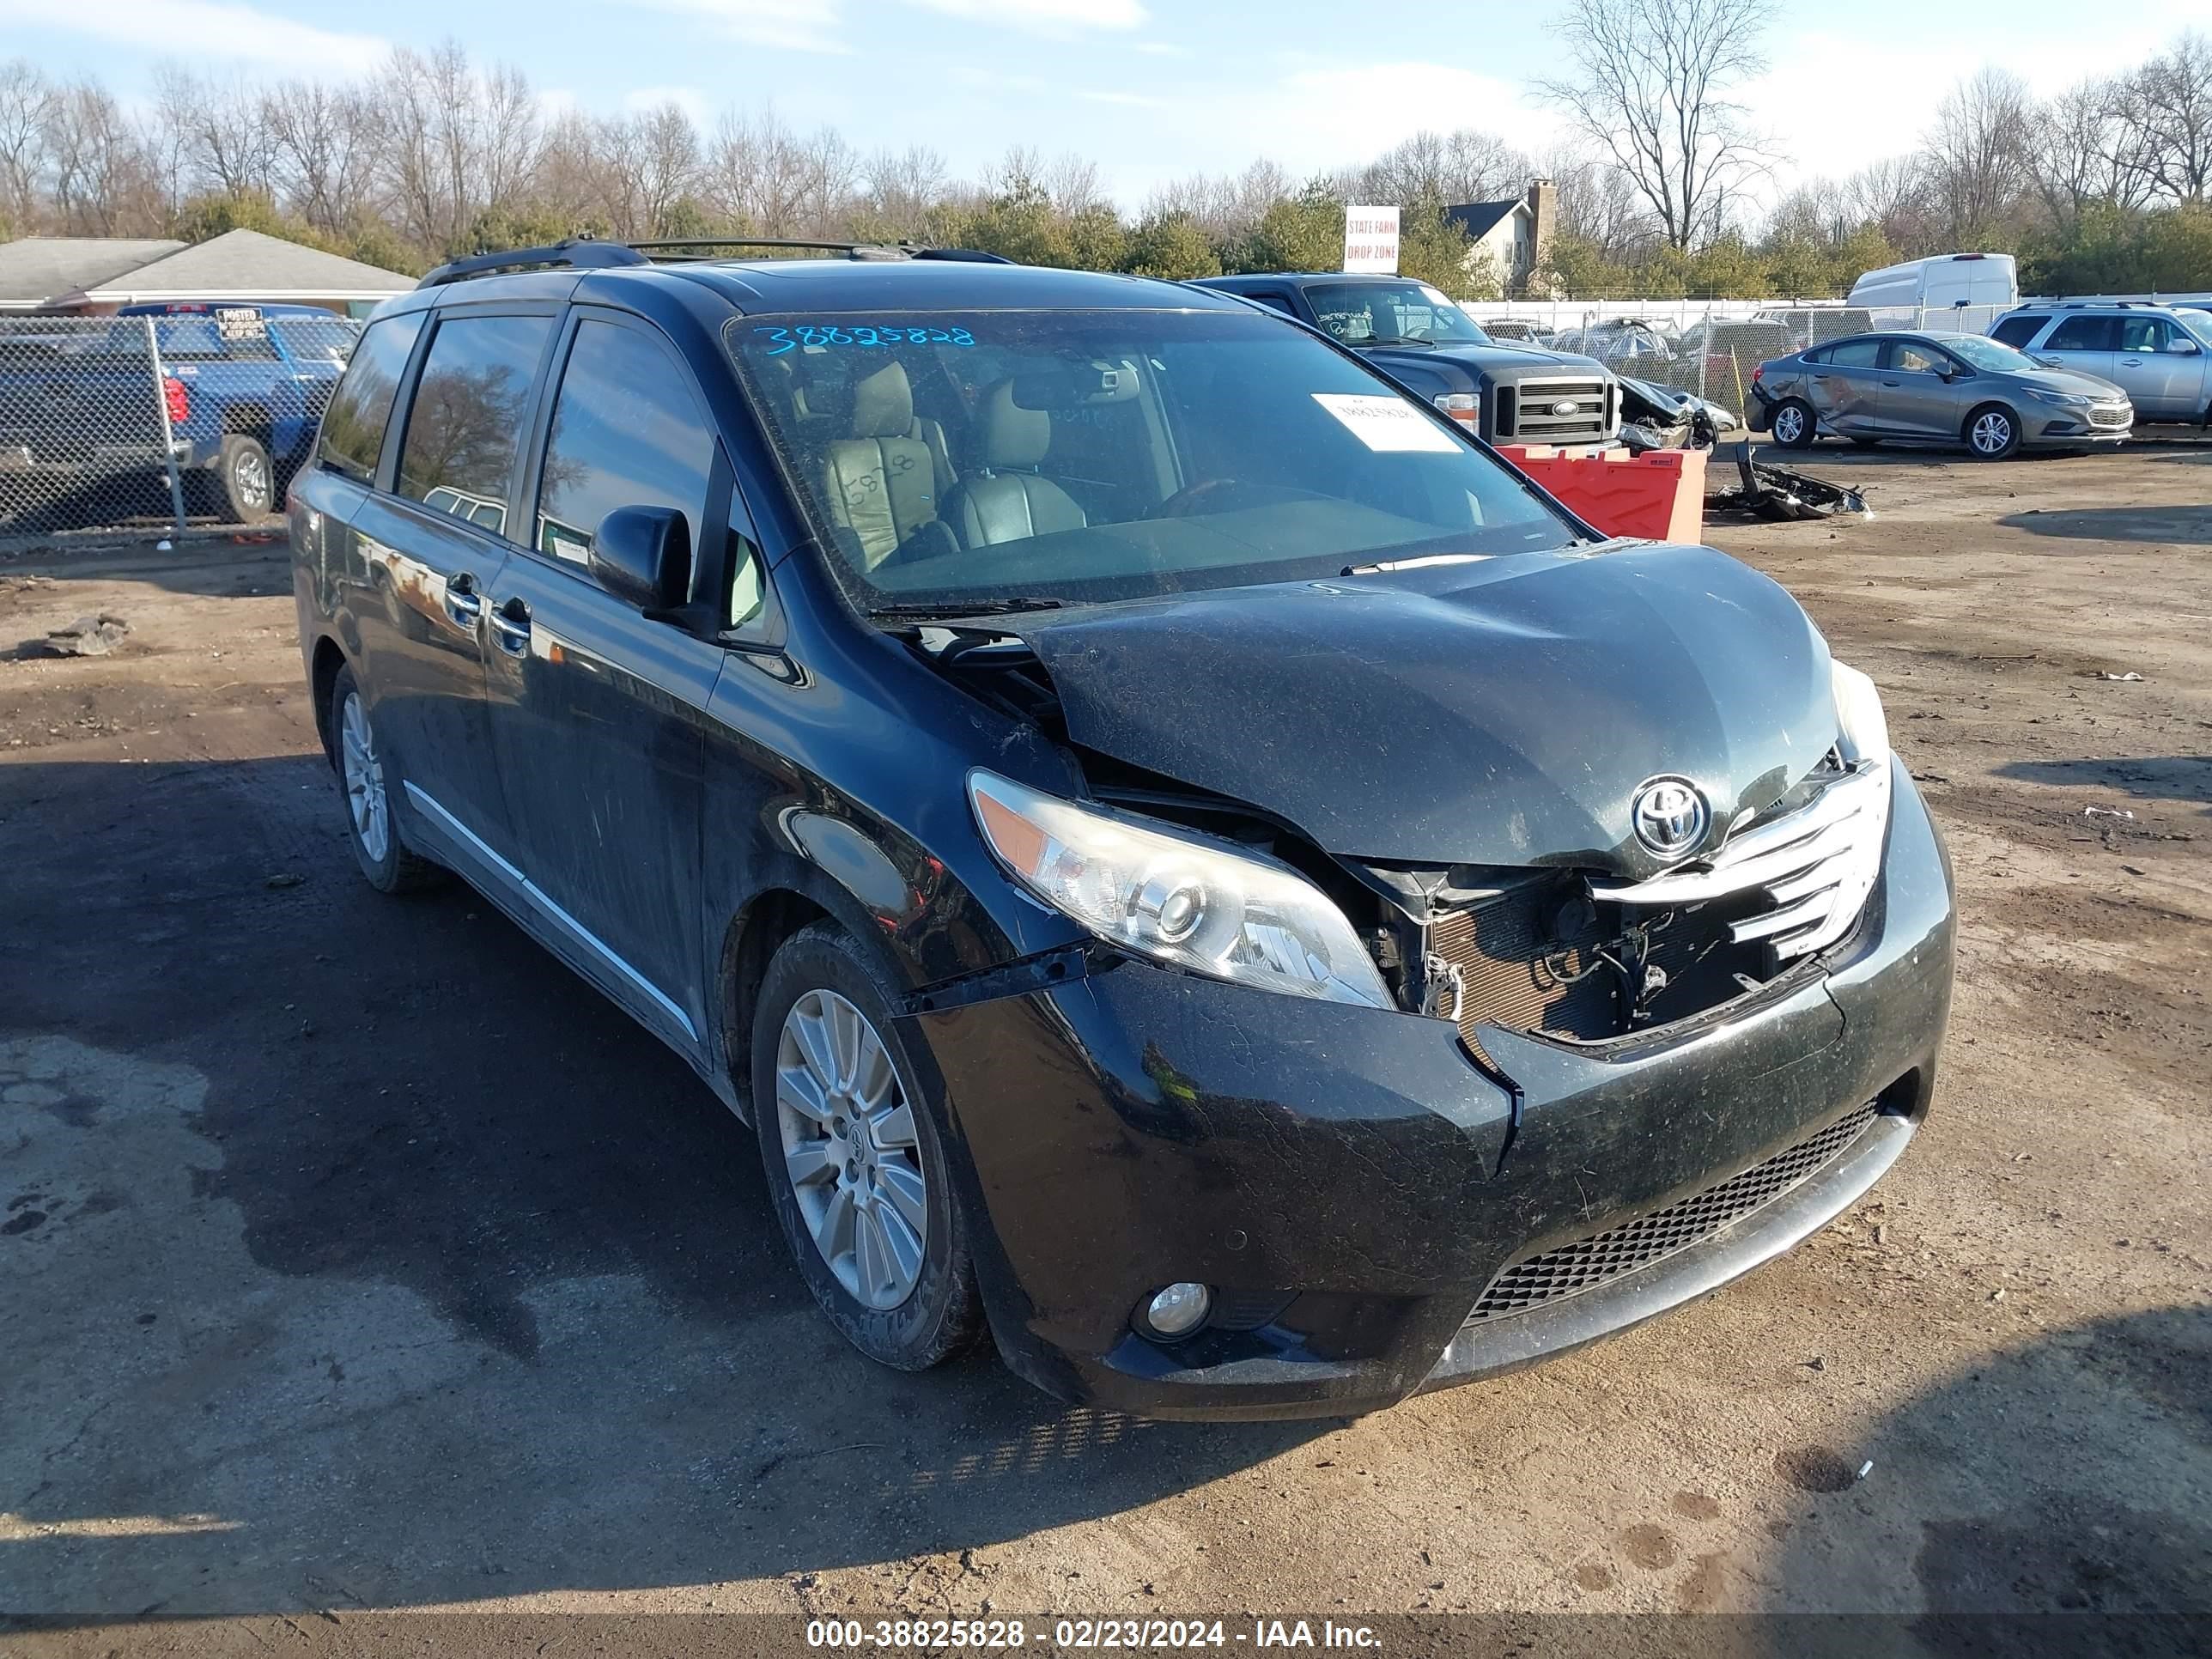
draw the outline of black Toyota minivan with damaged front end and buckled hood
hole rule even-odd
[[[1787,593],[1228,294],[825,252],[434,272],[290,520],[369,883],[677,1048],[856,1347],[1354,1413],[1902,1152],[1949,865]]]

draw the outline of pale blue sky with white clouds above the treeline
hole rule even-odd
[[[1192,170],[1272,155],[1294,173],[1365,159],[1420,126],[1542,150],[1526,88],[1553,0],[0,0],[0,55],[100,73],[137,95],[164,58],[248,73],[361,73],[387,44],[458,38],[553,100],[619,111],[679,97],[701,117],[772,104],[867,150],[929,144],[978,173],[1009,144],[1077,150],[1124,206]],[[1772,69],[1747,102],[1787,164],[1847,173],[1911,146],[1949,82],[2000,62],[2039,93],[2143,58],[2212,0],[1776,0]]]

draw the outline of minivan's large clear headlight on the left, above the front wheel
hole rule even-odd
[[[1285,865],[995,772],[969,772],[969,803],[1013,878],[1104,940],[1261,991],[1394,1006],[1345,914]]]

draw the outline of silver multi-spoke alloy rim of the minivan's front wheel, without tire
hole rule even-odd
[[[876,1026],[836,991],[807,991],[783,1015],[776,1128],[799,1214],[830,1272],[863,1307],[900,1307],[929,1239],[914,1104]]]

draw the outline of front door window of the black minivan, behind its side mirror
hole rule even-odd
[[[538,487],[540,553],[582,564],[617,507],[675,507],[699,549],[714,436],[686,380],[684,365],[637,330],[577,325]]]

